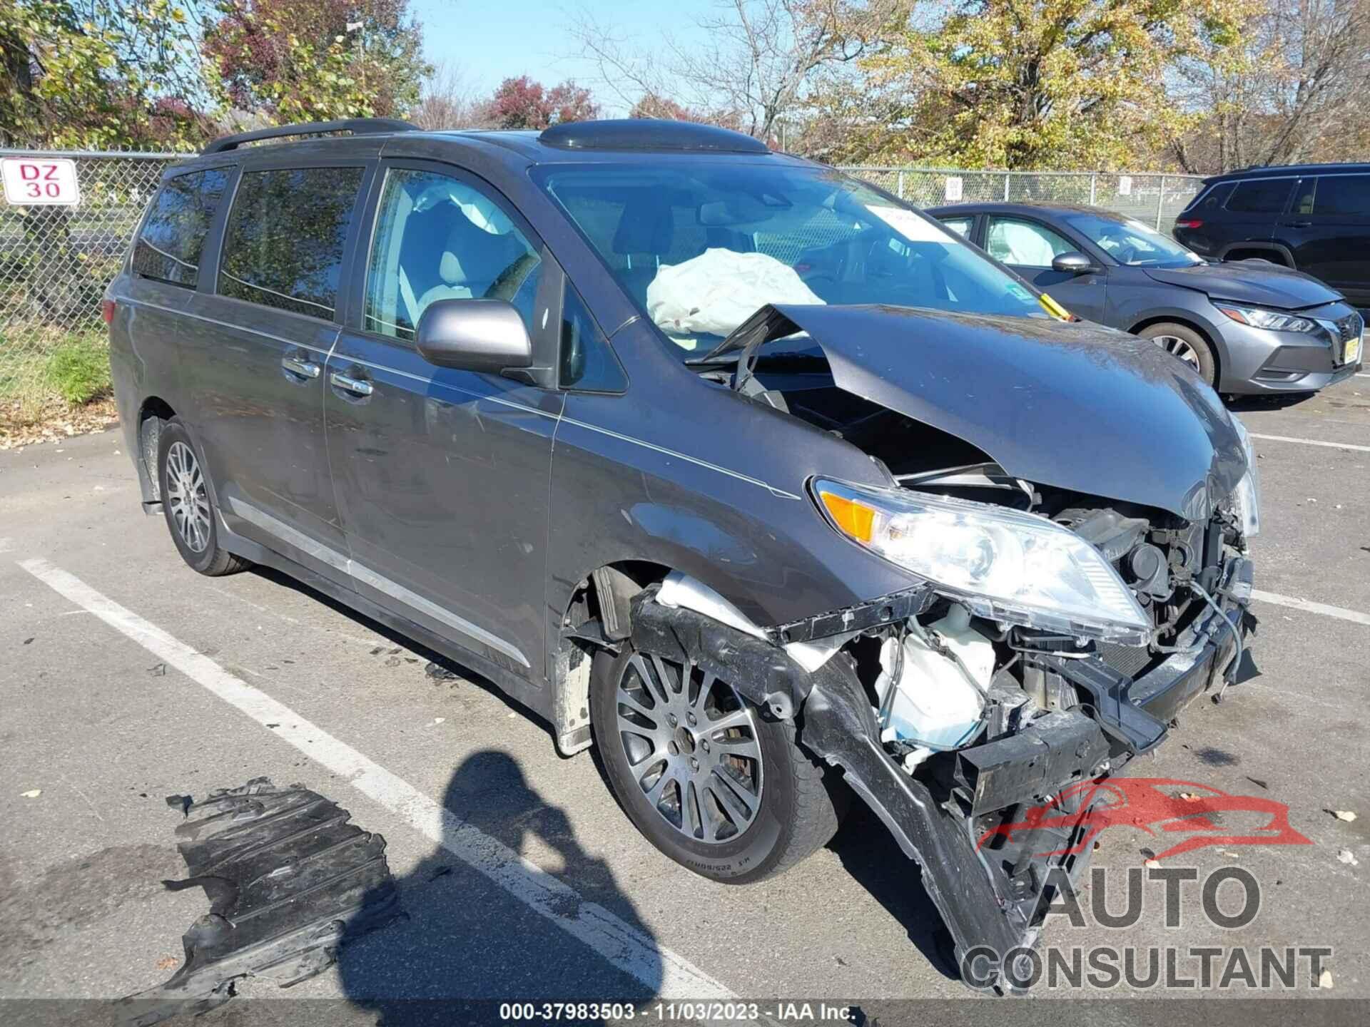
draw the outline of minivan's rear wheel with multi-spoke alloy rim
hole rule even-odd
[[[179,418],[171,418],[158,438],[158,485],[171,541],[192,570],[218,578],[252,566],[219,546],[219,518],[204,463]]]

